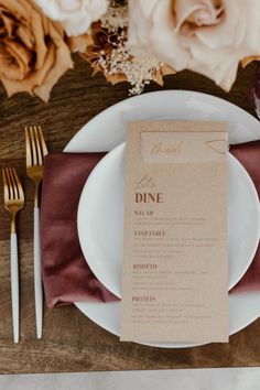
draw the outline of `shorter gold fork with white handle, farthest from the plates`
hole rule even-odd
[[[13,167],[2,170],[4,207],[11,215],[11,296],[13,340],[19,342],[19,261],[18,261],[18,236],[15,218],[18,212],[24,206],[22,185]]]

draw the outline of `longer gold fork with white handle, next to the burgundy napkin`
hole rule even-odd
[[[35,317],[36,335],[42,337],[42,317],[43,317],[43,292],[41,274],[41,252],[40,252],[40,202],[39,188],[43,178],[44,156],[47,154],[47,148],[40,126],[25,128],[25,148],[26,148],[26,173],[35,184],[34,193],[34,296],[35,296]]]

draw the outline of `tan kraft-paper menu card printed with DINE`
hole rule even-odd
[[[120,339],[228,342],[226,122],[128,123]]]

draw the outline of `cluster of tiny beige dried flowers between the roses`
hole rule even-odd
[[[118,18],[117,9],[118,12],[120,9]],[[141,58],[130,54],[126,46],[127,29],[122,7],[110,7],[102,20],[93,24],[90,36],[94,43],[87,47],[84,57],[91,64],[94,75],[101,72],[113,85],[128,82],[131,85],[130,95],[138,95],[151,80],[163,85],[163,76],[175,72],[156,58]]]

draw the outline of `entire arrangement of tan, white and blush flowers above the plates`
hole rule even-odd
[[[260,59],[258,0],[0,0],[0,79],[8,96],[47,101],[72,53],[140,94],[191,69],[225,90]]]

